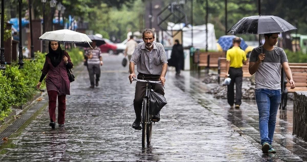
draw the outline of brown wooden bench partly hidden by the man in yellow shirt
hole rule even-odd
[[[226,75],[226,64],[227,60],[225,57],[220,57],[218,59],[218,83],[220,84],[220,78],[224,78]],[[243,77],[250,77],[251,74],[248,71],[249,66],[249,59],[247,59],[247,64],[243,65],[242,71],[243,71]]]

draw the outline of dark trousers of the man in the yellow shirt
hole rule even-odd
[[[229,78],[231,79],[230,84],[227,86],[227,100],[230,106],[234,103],[236,105],[241,105],[242,101],[242,79],[243,79],[243,71],[242,68],[234,68],[230,67]],[[235,94],[234,94],[234,85],[235,85]],[[235,95],[235,96],[234,96]],[[235,101],[234,101],[235,100]]]

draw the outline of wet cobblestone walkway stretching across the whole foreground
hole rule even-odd
[[[100,85],[89,88],[87,70],[73,71],[65,127],[49,127],[48,108],[1,150],[0,161],[304,161],[307,143],[292,136],[292,109],[279,112],[273,147],[259,149],[258,110],[254,101],[230,109],[225,99],[189,71],[166,76],[168,104],[153,126],[151,145],[141,147],[135,119],[135,83],[128,80],[122,56],[104,56]]]

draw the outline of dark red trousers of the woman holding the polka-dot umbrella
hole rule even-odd
[[[58,124],[64,124],[66,110],[66,95],[57,95],[57,91],[48,91],[50,121],[56,121],[56,97],[58,98]]]

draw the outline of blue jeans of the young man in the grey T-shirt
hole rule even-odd
[[[259,112],[261,145],[263,145],[264,142],[268,142],[271,145],[273,142],[276,115],[282,91],[260,88],[255,90],[255,95]]]

